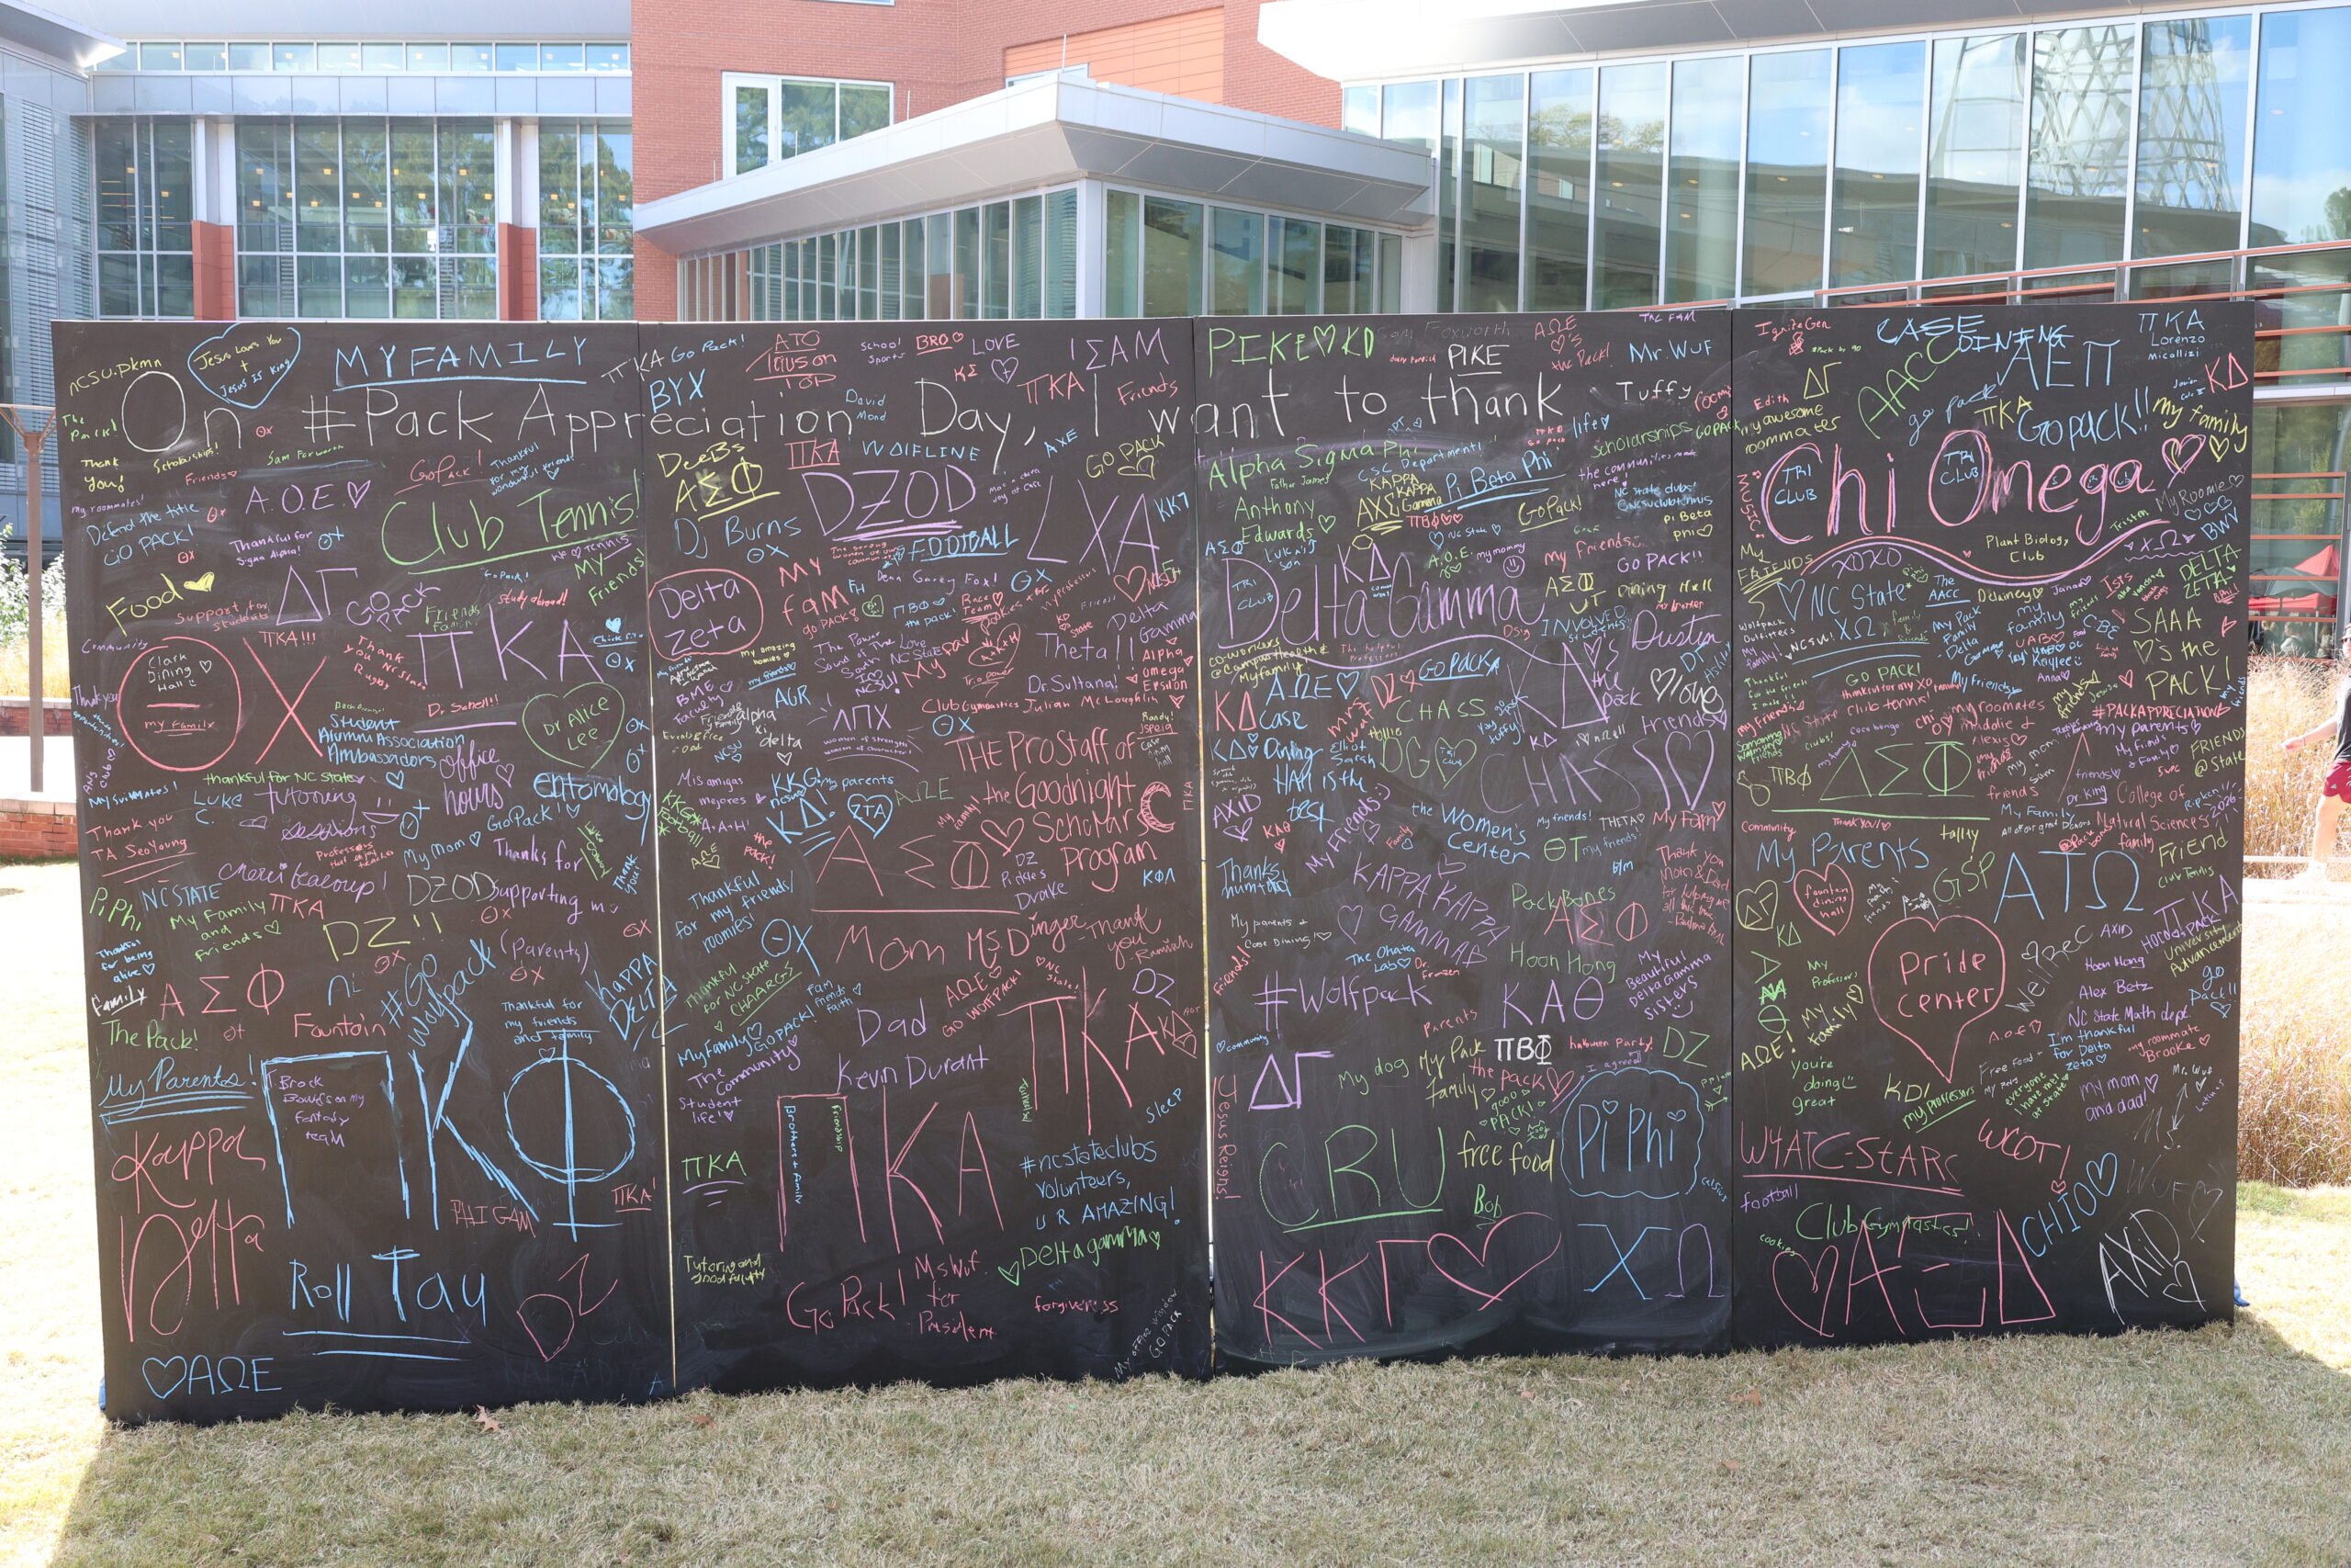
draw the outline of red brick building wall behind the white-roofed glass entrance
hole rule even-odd
[[[891,120],[1011,75],[1086,66],[1098,82],[1338,125],[1338,82],[1258,42],[1260,0],[635,0],[637,202],[729,169],[726,73],[886,82]],[[637,315],[677,315],[677,266],[637,240]]]

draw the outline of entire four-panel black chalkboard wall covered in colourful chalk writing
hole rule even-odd
[[[2226,1316],[2248,346],[61,324],[106,1408]]]

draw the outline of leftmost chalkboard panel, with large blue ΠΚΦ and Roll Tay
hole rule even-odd
[[[56,327],[115,1418],[672,1385],[632,348]]]

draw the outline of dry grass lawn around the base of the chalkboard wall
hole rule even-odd
[[[0,867],[24,1563],[2351,1563],[2351,1192],[2236,1328],[106,1432],[73,867]]]

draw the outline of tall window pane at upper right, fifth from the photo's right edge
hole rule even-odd
[[[1923,110],[1925,45],[1846,49],[1836,61],[1831,284],[1916,275]]]

